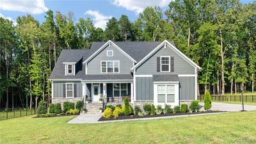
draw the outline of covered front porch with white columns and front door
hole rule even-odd
[[[128,97],[129,102],[133,97],[132,81],[83,81],[83,96],[90,98],[91,102],[124,102]]]

